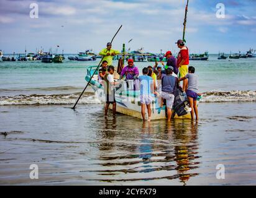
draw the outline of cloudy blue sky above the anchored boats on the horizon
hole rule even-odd
[[[38,18],[30,17],[32,3],[38,5]],[[224,18],[216,17],[218,3],[224,4]],[[0,0],[0,49],[55,52],[58,45],[59,52],[98,53],[122,25],[112,48],[121,50],[125,43],[132,50],[176,52],[185,6],[186,0]],[[256,49],[255,8],[256,0],[190,0],[185,34],[190,52]]]

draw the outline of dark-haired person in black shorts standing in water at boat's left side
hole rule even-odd
[[[109,66],[107,68],[107,73],[104,76],[104,93],[106,96],[106,106],[105,106],[105,116],[107,116],[107,110],[109,105],[112,104],[113,116],[116,114],[116,98],[114,92],[114,86],[119,84],[118,82],[114,82],[114,66]]]

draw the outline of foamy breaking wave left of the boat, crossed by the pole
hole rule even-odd
[[[70,105],[75,104],[79,94],[58,95],[16,95],[0,97],[0,105]],[[100,104],[101,101],[93,93],[86,93],[80,98],[78,104]]]

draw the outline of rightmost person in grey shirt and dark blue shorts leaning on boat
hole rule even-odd
[[[188,67],[188,74],[186,74],[185,77],[179,79],[179,81],[188,79],[188,89],[186,90],[186,96],[190,101],[191,119],[194,119],[195,113],[196,120],[198,120],[198,106],[196,105],[196,99],[198,98],[198,95],[200,96],[201,94],[198,93],[198,75],[194,74],[194,71],[194,67]]]

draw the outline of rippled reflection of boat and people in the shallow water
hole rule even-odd
[[[117,127],[117,118],[106,118],[98,132],[97,136],[102,138],[99,170],[93,170],[98,176],[91,180],[111,184],[180,185],[181,182],[185,185],[198,175],[197,123],[186,119],[142,123],[139,119],[120,116],[126,119],[121,128]]]

